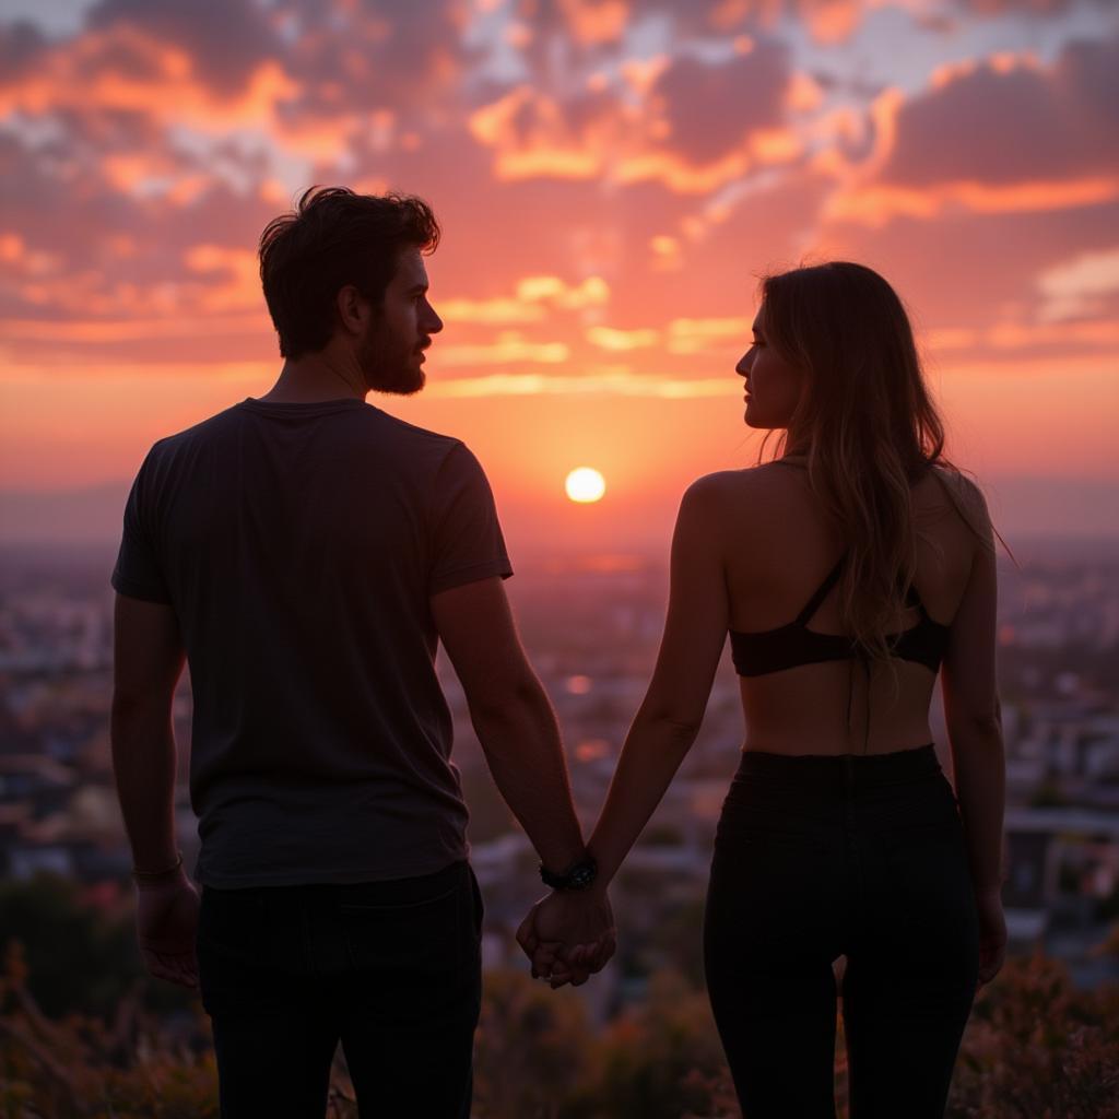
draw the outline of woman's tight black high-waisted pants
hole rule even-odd
[[[932,745],[742,756],[716,833],[704,961],[746,1119],[834,1119],[840,955],[852,1119],[940,1119],[979,925]]]

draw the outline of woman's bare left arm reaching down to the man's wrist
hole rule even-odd
[[[603,893],[703,723],[728,623],[722,497],[716,474],[694,482],[680,502],[657,667],[587,844],[599,863],[595,887]]]

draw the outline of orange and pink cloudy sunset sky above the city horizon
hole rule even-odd
[[[1012,532],[1119,520],[1116,0],[0,0],[0,162],[21,500],[267,391],[256,242],[318,182],[435,208],[429,385],[370,401],[514,543],[659,539],[751,464],[758,276],[828,257],[906,300]]]

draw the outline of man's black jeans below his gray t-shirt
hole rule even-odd
[[[321,1119],[339,1041],[363,1117],[469,1119],[481,920],[466,862],[394,882],[204,888],[223,1119]]]

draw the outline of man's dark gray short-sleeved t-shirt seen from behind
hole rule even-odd
[[[466,445],[363,401],[250,398],[156,443],[112,582],[179,621],[198,881],[383,881],[466,858],[429,600],[510,574]]]

